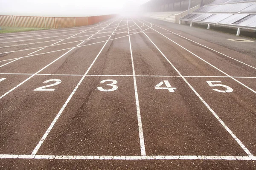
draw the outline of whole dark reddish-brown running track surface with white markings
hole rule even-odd
[[[238,38],[125,17],[0,35],[0,169],[256,169],[256,42]]]

